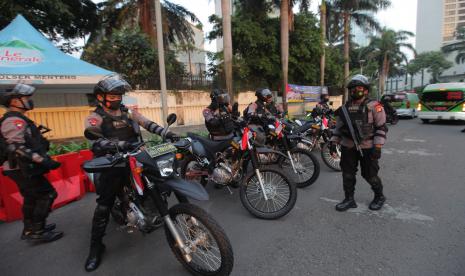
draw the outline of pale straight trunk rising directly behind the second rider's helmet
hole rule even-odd
[[[226,89],[228,90],[230,100],[234,101],[234,91],[232,85],[232,34],[230,0],[221,0],[221,15],[223,17],[223,55]]]

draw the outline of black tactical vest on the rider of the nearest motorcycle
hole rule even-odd
[[[118,139],[135,143],[140,141],[140,127],[129,118],[127,110],[121,108],[121,116],[113,116],[103,110],[102,107],[97,107],[94,111],[102,117],[101,129],[103,136],[107,139]]]

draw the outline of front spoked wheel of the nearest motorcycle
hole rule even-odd
[[[194,275],[229,275],[234,256],[231,243],[221,226],[207,212],[192,204],[177,204],[170,208],[169,213],[190,251],[191,260],[186,261],[165,224],[166,238],[178,261]]]

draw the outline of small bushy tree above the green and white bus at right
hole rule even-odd
[[[441,51],[421,53],[410,64],[413,71],[415,69],[417,72],[427,70],[432,77],[430,83],[439,82],[441,73],[452,67],[452,63],[445,58],[444,53]]]

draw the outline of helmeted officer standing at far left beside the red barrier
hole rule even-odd
[[[54,231],[55,224],[46,224],[53,201],[55,188],[44,174],[60,166],[48,155],[49,142],[40,128],[24,114],[34,108],[31,99],[35,88],[17,84],[1,93],[1,104],[7,112],[0,119],[4,174],[10,177],[24,198],[21,239],[34,242],[51,242],[63,237],[63,232]]]

